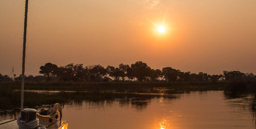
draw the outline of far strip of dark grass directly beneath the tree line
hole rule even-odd
[[[0,87],[20,89],[20,82],[0,82]],[[25,82],[25,90],[153,90],[165,88],[174,91],[223,90],[223,82]]]

